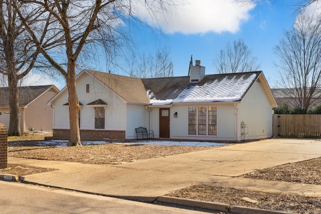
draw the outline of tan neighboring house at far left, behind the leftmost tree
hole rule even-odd
[[[54,85],[19,87],[19,116],[22,133],[30,130],[52,130],[53,109],[46,104],[58,92]],[[9,88],[0,88],[0,123],[5,124],[8,130],[9,122]]]

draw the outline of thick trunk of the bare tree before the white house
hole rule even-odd
[[[69,60],[70,61],[70,60]],[[79,112],[79,100],[76,91],[76,71],[75,63],[68,63],[68,75],[67,75],[67,89],[68,89],[68,103],[69,103],[69,124],[70,124],[70,139],[67,146],[81,146],[78,112]]]

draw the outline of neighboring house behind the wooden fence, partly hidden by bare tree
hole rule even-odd
[[[271,91],[278,106],[288,104],[291,108],[294,108],[300,105],[299,100],[295,98],[297,97],[297,92],[294,88],[272,88]],[[310,106],[315,106],[319,103],[321,103],[321,89],[317,88],[311,98]]]

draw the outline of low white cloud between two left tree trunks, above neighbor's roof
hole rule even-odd
[[[51,77],[33,71],[29,72],[29,74],[21,80],[21,86],[55,85],[59,90],[62,89],[65,84],[61,76]]]

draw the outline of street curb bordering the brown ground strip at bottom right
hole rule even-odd
[[[183,199],[177,197],[159,196],[155,202],[163,202],[177,205],[185,205],[197,208],[211,209],[222,212],[237,213],[237,214],[290,214],[290,212],[259,209],[246,206],[230,206],[220,202],[206,202],[193,199]]]

